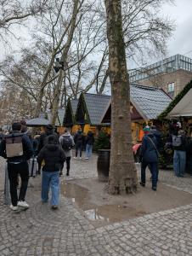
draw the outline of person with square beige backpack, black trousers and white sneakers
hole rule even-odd
[[[0,146],[0,155],[7,159],[8,180],[10,187],[11,205],[13,211],[18,207],[28,208],[25,194],[29,179],[28,160],[33,155],[32,144],[25,134],[21,133],[20,123],[12,125],[12,133],[5,136]],[[20,174],[20,194],[17,195],[18,175]]]

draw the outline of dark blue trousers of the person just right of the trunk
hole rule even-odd
[[[145,171],[146,167],[150,164],[150,172],[152,175],[152,188],[156,187],[158,181],[158,162],[145,162],[144,160],[141,163],[141,182],[145,183]]]

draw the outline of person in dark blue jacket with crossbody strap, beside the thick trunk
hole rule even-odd
[[[155,135],[150,133],[145,134],[142,140],[141,146],[141,186],[145,186],[145,171],[146,167],[150,166],[150,172],[152,176],[152,189],[156,191],[158,181],[158,143]]]

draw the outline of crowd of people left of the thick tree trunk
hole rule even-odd
[[[0,156],[7,159],[8,180],[10,188],[11,205],[13,211],[19,207],[28,208],[25,201],[29,170],[29,161],[37,159],[37,174],[42,173],[42,202],[48,202],[49,188],[51,189],[50,204],[53,209],[59,207],[59,176],[63,175],[64,163],[66,162],[66,177],[70,175],[72,148],[76,148],[76,156],[82,159],[82,149],[85,147],[85,159],[92,155],[94,137],[93,132],[88,135],[82,134],[79,129],[72,137],[70,131],[65,129],[60,135],[54,131],[53,125],[46,125],[45,131],[37,132],[33,137],[27,131],[25,121],[16,122],[11,131],[0,130]],[[34,167],[33,165],[31,166]],[[17,189],[20,179],[20,193]]]

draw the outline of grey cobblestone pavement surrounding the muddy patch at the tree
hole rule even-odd
[[[192,205],[94,228],[70,199],[62,198],[58,211],[43,204],[40,177],[31,178],[27,191],[31,207],[12,212],[3,205],[3,169],[1,159],[0,255],[192,255]],[[95,176],[95,156],[72,160],[72,178]],[[161,171],[160,182],[192,193],[192,178]]]

